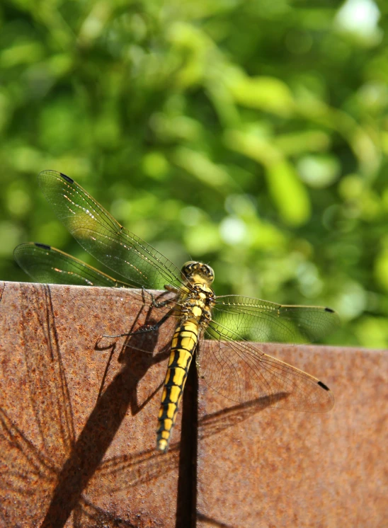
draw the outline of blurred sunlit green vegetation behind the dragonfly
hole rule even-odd
[[[217,293],[329,305],[331,342],[386,347],[387,10],[6,0],[1,279],[27,280],[23,241],[91,262],[37,188],[52,168]]]

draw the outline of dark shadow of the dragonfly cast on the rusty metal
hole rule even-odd
[[[44,310],[41,309],[42,298]],[[130,408],[132,415],[142,411],[160,388],[157,387],[146,401],[139,404],[137,381],[134,380],[139,380],[152,362],[163,360],[169,351],[156,356],[142,353],[141,369],[138,366],[137,372],[133,372],[132,358],[137,348],[132,350],[128,340],[120,354],[124,356],[121,358],[122,369],[98,398],[76,438],[50,287],[22,286],[21,309],[25,314],[21,333],[28,372],[26,385],[39,441],[29,440],[0,408],[0,520],[7,527],[61,527],[68,519],[77,528],[137,526],[94,504],[88,495],[118,493],[165,478],[169,472],[179,469],[179,443],[171,444],[169,452],[163,455],[149,449],[103,459],[127,409]],[[130,357],[125,358],[129,354]],[[146,360],[148,365],[144,364]],[[198,423],[199,437],[216,435],[241,423],[273,403],[273,397],[257,398],[207,415]],[[287,394],[276,397],[280,401]]]

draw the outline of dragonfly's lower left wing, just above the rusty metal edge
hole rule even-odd
[[[125,282],[115,280],[82,260],[45,244],[21,244],[15,248],[13,255],[18,265],[37,282],[130,288]]]

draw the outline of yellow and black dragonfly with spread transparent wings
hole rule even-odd
[[[322,381],[264,353],[258,343],[307,343],[338,325],[338,315],[324,306],[292,306],[240,295],[216,296],[215,273],[190,260],[181,269],[147,242],[120,225],[72,178],[57,171],[38,175],[42,193],[74,239],[125,281],[42,243],[23,243],[14,255],[38,282],[71,285],[163,289],[169,299],[155,308],[167,311],[144,331],[167,319],[170,355],[156,431],[156,448],[166,452],[178,406],[195,357],[201,379],[219,394],[244,403],[266,398],[268,406],[292,411],[325,412],[334,404]],[[282,395],[279,397],[279,395]]]

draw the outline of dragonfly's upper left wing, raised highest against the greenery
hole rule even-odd
[[[181,284],[181,272],[170,260],[122,227],[72,178],[42,171],[38,182],[74,239],[105,266],[138,287]]]

